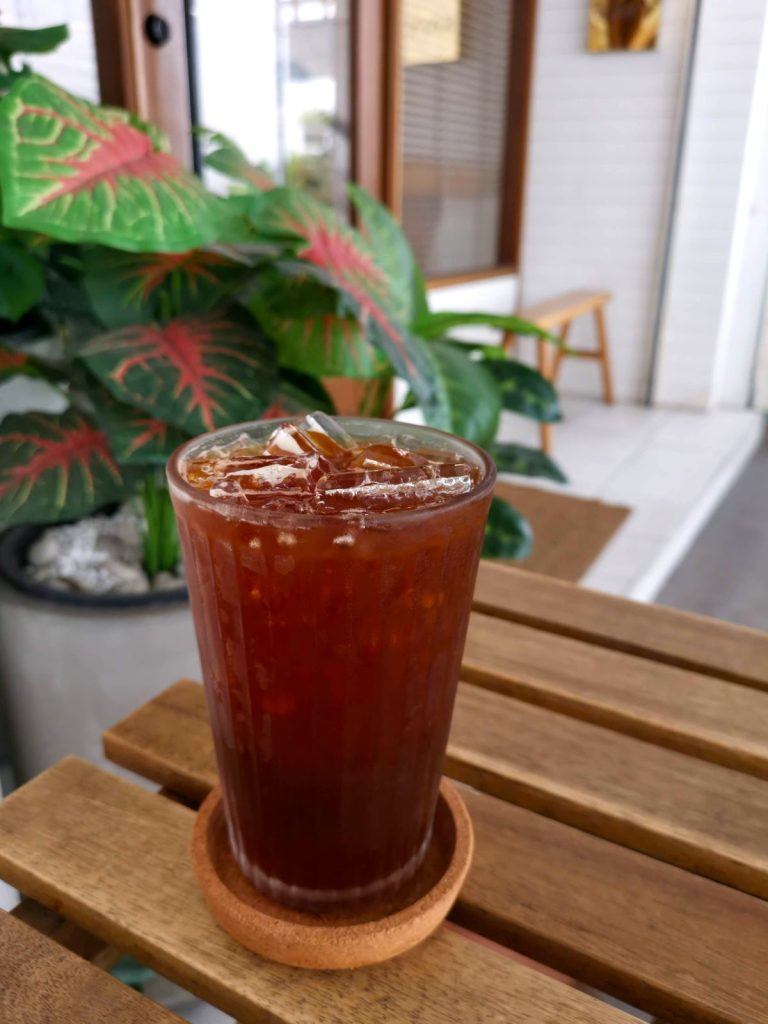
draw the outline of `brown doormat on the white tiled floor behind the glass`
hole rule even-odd
[[[521,512],[534,530],[534,551],[517,568],[578,583],[632,511],[538,487],[499,483],[496,493]]]

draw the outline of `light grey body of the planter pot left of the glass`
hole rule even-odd
[[[201,678],[185,602],[72,607],[0,584],[0,690],[19,782],[68,754],[105,763],[104,729],[182,677]]]

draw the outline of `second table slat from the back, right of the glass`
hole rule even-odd
[[[472,614],[464,678],[768,779],[768,693]]]

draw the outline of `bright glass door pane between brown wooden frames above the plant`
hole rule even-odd
[[[195,0],[201,124],[278,180],[347,209],[350,0]],[[224,182],[206,171],[212,187]]]

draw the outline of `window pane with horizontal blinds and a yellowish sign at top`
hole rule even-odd
[[[402,223],[430,275],[499,263],[512,7],[403,0]]]

